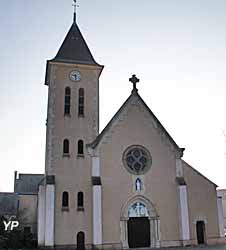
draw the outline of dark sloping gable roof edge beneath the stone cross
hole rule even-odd
[[[111,128],[112,124],[114,123],[115,120],[118,119],[118,117],[120,116],[121,112],[125,109],[125,107],[130,103],[130,101],[134,98],[137,97],[138,100],[144,105],[144,107],[146,108],[146,110],[149,112],[149,114],[151,115],[151,117],[153,117],[153,119],[155,120],[155,122],[157,123],[157,126],[161,129],[161,131],[163,133],[165,133],[165,135],[168,137],[168,139],[171,141],[171,143],[174,145],[174,147],[178,150],[178,152],[181,153],[181,156],[183,155],[183,151],[184,148],[180,148],[176,142],[173,140],[173,138],[170,136],[170,134],[166,131],[166,129],[163,127],[163,125],[160,123],[160,121],[157,119],[157,117],[154,115],[154,113],[150,110],[150,108],[148,107],[148,105],[144,102],[144,100],[141,98],[141,96],[138,94],[137,91],[132,91],[131,95],[127,98],[127,100],[123,103],[123,105],[120,107],[120,109],[116,112],[116,114],[113,116],[113,118],[110,120],[110,122],[106,125],[106,127],[102,130],[102,132],[96,137],[96,139],[90,143],[87,144],[88,147],[91,148],[96,148],[98,146],[98,144],[101,142],[102,138],[104,137],[104,135],[109,131],[109,129]]]

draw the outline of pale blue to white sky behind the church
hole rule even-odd
[[[101,128],[139,93],[184,159],[226,188],[226,1],[80,0],[77,20],[100,64]],[[0,12],[0,191],[13,172],[43,173],[46,60],[72,23],[71,0],[8,0]]]

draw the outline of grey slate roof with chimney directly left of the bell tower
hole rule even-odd
[[[15,193],[38,193],[38,185],[44,178],[44,174],[19,174],[19,178],[15,179]]]

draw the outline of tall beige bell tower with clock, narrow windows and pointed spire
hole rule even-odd
[[[59,51],[46,67],[48,108],[45,180],[39,187],[40,246],[92,244],[91,159],[86,144],[99,133],[102,70],[79,30],[75,12]]]

